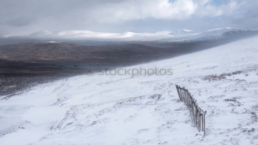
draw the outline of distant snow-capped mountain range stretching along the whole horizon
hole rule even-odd
[[[166,47],[171,43],[195,43],[195,42],[205,42],[205,41],[235,41],[237,39],[246,38],[254,35],[258,35],[256,30],[244,30],[239,28],[216,28],[204,31],[202,33],[197,33],[193,30],[180,29],[174,31],[167,35],[168,32],[157,32],[154,33],[134,33],[134,32],[124,32],[124,33],[104,33],[104,32],[92,32],[88,30],[65,30],[65,31],[39,31],[31,34],[30,36],[12,36],[3,39],[5,41],[0,41],[0,45],[6,44],[18,44],[25,42],[35,42],[34,39],[39,41],[61,41],[68,43],[78,43],[83,45],[88,45],[88,43],[83,43],[86,41],[95,41],[93,45],[106,45],[106,44],[120,44],[120,43],[138,43],[138,44],[148,44],[150,46],[159,46],[159,44],[165,44]],[[6,36],[5,36],[6,37]],[[99,43],[98,43],[99,42]],[[163,47],[163,46],[160,46]]]

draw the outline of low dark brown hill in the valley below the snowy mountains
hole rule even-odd
[[[0,46],[0,58],[26,61],[137,63],[171,58],[179,51],[140,44],[84,46],[65,42]]]

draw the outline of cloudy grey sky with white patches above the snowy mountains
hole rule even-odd
[[[257,0],[1,0],[0,34],[258,27]]]

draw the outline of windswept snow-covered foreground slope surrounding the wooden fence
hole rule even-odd
[[[0,144],[257,144],[257,55],[252,37],[128,67],[173,75],[84,75],[2,96]],[[205,136],[175,84],[207,110]]]

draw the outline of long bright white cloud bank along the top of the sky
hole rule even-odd
[[[90,13],[95,21],[105,23],[147,18],[186,20],[192,16],[217,17],[231,14],[236,8],[236,1],[216,6],[211,0],[125,0],[96,6]]]

